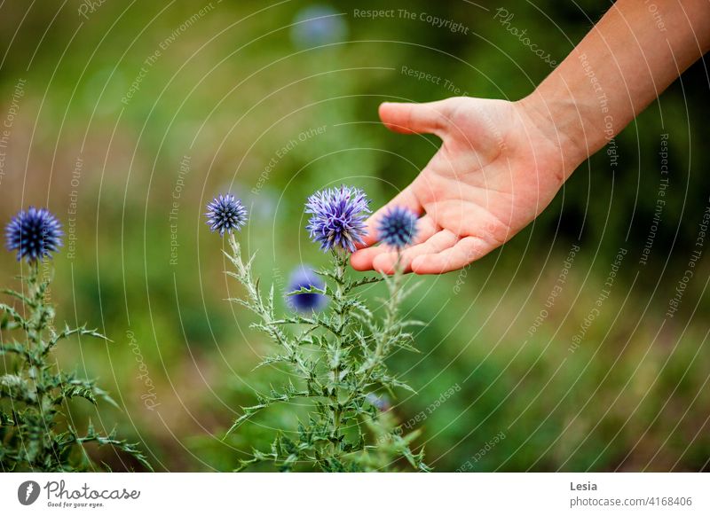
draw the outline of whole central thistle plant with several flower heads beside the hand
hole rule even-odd
[[[288,292],[292,310],[281,315],[274,303],[274,287],[264,295],[254,276],[255,255],[242,257],[231,231],[241,225],[225,225],[229,233],[225,255],[233,266],[226,274],[236,278],[246,293],[230,301],[256,315],[251,326],[276,348],[258,366],[279,364],[288,371],[288,380],[280,387],[256,393],[256,403],[241,408],[241,416],[227,434],[277,404],[291,407],[297,402],[307,408],[295,427],[278,429],[271,447],[253,450],[251,458],[241,460],[239,469],[265,462],[280,471],[388,471],[403,465],[429,470],[423,450],[412,450],[419,432],[403,434],[389,403],[383,401],[385,393],[414,392],[387,367],[395,351],[414,351],[409,328],[415,322],[404,320],[399,313],[407,295],[402,268],[397,267],[391,277],[353,279],[347,274],[350,254],[366,235],[368,202],[364,192],[347,186],[317,192],[308,199],[307,229],[312,241],[330,254],[330,266],[296,270]],[[232,211],[240,211],[241,202],[233,199],[233,203]],[[210,211],[208,217],[214,218]],[[415,223],[416,216],[404,209],[385,214],[379,225],[383,245],[401,253],[414,238]],[[379,282],[386,286],[387,297],[381,309],[372,310],[360,291]]]

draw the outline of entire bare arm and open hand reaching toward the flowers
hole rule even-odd
[[[575,168],[641,113],[710,50],[710,1],[619,0],[531,95],[517,102],[447,98],[384,103],[391,130],[430,133],[438,152],[397,197],[368,220],[351,256],[355,270],[392,273],[397,254],[376,246],[390,207],[422,215],[402,254],[406,271],[461,269],[540,215]],[[662,20],[662,30],[657,25]]]

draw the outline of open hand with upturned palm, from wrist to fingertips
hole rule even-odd
[[[397,254],[374,246],[378,217],[390,207],[424,214],[402,254],[405,270],[417,274],[461,269],[533,221],[581,162],[564,159],[569,142],[540,113],[525,101],[482,98],[380,106],[389,129],[435,134],[443,145],[412,184],[369,218],[366,246],[352,254],[352,267],[393,272]]]

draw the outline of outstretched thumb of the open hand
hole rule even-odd
[[[380,119],[387,129],[398,133],[431,133],[441,136],[448,125],[448,105],[446,100],[409,104],[383,102],[380,105]]]

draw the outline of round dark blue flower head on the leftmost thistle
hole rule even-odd
[[[59,250],[63,234],[57,217],[43,207],[20,211],[5,228],[7,248],[17,250],[18,261],[25,258],[28,262],[36,262],[51,258],[51,253]]]

